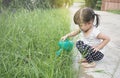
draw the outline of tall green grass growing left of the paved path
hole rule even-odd
[[[55,55],[69,26],[66,9],[0,14],[0,78],[73,78],[71,53]]]

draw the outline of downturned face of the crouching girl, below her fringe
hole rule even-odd
[[[80,29],[83,32],[87,32],[89,29],[93,27],[93,21],[87,22],[87,23],[81,23]]]

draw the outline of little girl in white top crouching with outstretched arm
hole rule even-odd
[[[93,24],[94,20],[96,20],[95,25]],[[82,55],[84,54],[84,59],[81,63],[87,68],[95,67],[96,63],[94,61],[99,61],[103,58],[102,49],[110,41],[110,38],[97,29],[99,15],[91,8],[79,9],[74,15],[74,22],[79,26],[79,29],[66,34],[61,40],[79,34],[80,38],[76,42],[76,47]]]

